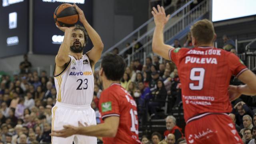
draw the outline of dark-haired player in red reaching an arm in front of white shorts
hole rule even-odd
[[[80,123],[78,127],[68,125],[63,130],[54,130],[51,135],[68,137],[81,134],[102,137],[104,144],[140,144],[136,102],[120,85],[125,65],[116,54],[106,54],[102,58],[99,71],[104,88],[99,102],[102,124],[86,127]]]

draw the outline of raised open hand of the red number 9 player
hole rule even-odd
[[[165,25],[169,18],[170,18],[170,14],[168,14],[168,16],[166,16],[165,14],[165,10],[164,7],[160,7],[159,5],[157,5],[157,9],[155,7],[153,7],[153,10],[151,11],[151,13],[154,16],[154,22],[157,25]]]

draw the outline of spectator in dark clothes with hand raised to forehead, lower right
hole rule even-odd
[[[251,118],[254,116],[254,112],[244,103],[244,102],[238,102],[232,112],[233,114],[236,115],[236,124],[240,126],[240,128],[244,128],[243,125],[243,116],[244,115],[249,115]]]

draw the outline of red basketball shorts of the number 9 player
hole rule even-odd
[[[228,115],[222,113],[202,115],[190,118],[194,120],[188,120],[186,124],[185,135],[188,144],[243,144]]]

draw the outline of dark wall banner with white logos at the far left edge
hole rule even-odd
[[[28,0],[0,0],[0,58],[28,52]]]

